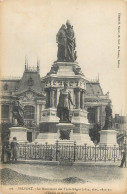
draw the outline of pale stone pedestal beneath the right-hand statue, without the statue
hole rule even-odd
[[[109,146],[109,147],[118,146],[117,132],[112,129],[100,131],[99,146]]]

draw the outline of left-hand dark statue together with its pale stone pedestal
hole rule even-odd
[[[18,97],[15,97],[13,101],[13,127],[9,128],[10,130],[10,141],[16,137],[19,143],[27,142],[27,129],[24,126],[24,119],[23,119],[23,107],[22,104],[19,102]]]

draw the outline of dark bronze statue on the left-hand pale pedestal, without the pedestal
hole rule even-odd
[[[16,100],[13,102],[12,113],[13,113],[13,119],[17,120],[18,126],[23,126],[24,125],[24,110],[18,98],[16,98]]]

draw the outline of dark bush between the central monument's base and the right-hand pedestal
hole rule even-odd
[[[89,130],[89,136],[94,143],[98,143],[100,141],[100,131],[101,125],[99,123],[96,123],[93,128]]]

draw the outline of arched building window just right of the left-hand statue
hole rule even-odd
[[[24,107],[24,118],[25,119],[34,119],[34,107],[33,106],[25,106]]]

